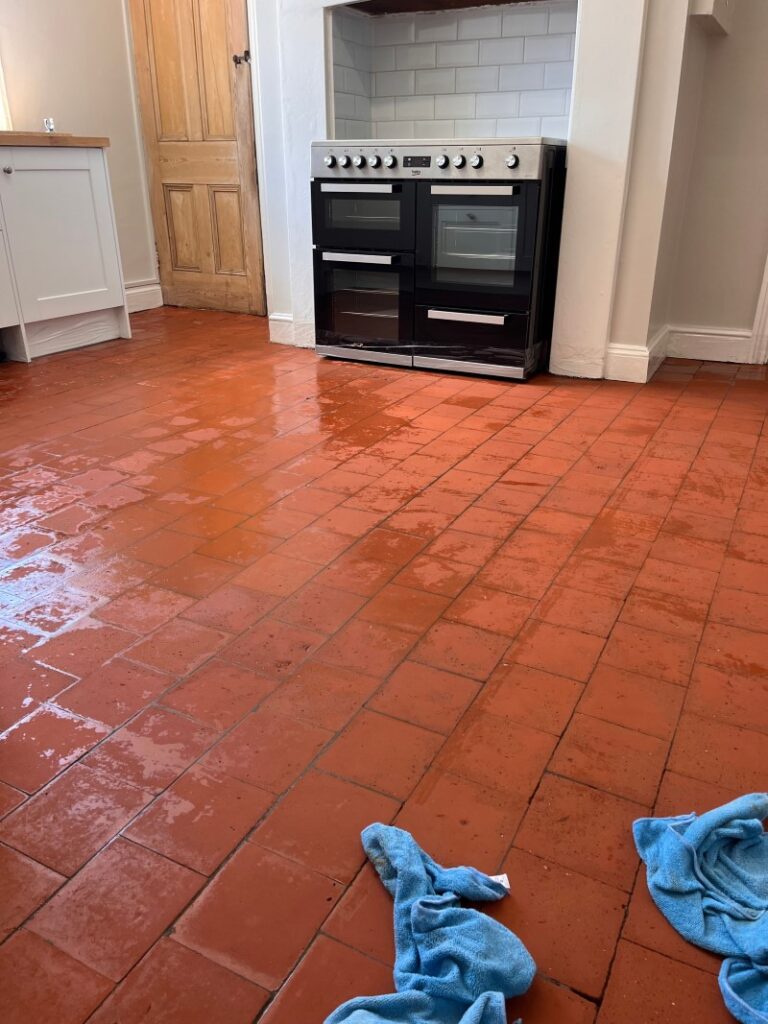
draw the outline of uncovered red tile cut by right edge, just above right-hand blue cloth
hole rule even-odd
[[[684,713],[670,754],[672,771],[737,791],[759,791],[764,782],[768,735]]]

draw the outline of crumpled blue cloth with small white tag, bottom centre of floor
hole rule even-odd
[[[526,991],[536,964],[516,935],[460,900],[498,900],[474,867],[440,867],[414,838],[374,824],[362,846],[394,898],[395,993],[359,996],[326,1024],[506,1024],[505,997]]]

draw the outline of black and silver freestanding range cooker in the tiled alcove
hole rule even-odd
[[[317,351],[525,379],[552,336],[565,144],[313,142]]]

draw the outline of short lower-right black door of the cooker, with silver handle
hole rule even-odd
[[[534,371],[524,313],[416,307],[414,366],[523,380]]]

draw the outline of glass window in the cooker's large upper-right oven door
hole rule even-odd
[[[432,215],[434,281],[514,286],[518,207],[445,203],[436,204]]]

